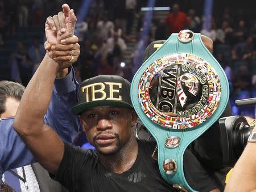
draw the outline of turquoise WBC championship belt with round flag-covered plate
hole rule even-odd
[[[218,121],[229,100],[228,79],[200,33],[173,33],[134,75],[131,100],[156,140],[164,180],[195,191],[185,180],[184,151]]]

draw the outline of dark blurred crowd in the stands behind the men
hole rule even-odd
[[[78,19],[75,35],[79,37],[81,54],[74,65],[77,80],[100,74],[121,75],[131,80],[138,64],[133,63],[133,57],[148,23],[144,12],[136,0],[87,2],[91,3],[85,15],[84,1],[80,0],[0,0],[0,64],[7,63],[9,79],[27,85],[45,53],[42,28],[46,18],[68,3]],[[187,7],[188,11],[183,11],[186,7],[177,4],[170,7],[170,12],[160,18],[153,12],[146,45],[167,39],[181,29],[210,37],[214,42],[213,55],[229,80],[233,113],[254,117],[254,106],[237,108],[233,101],[256,97],[256,18],[242,9],[225,8],[221,14],[212,16],[207,28],[206,18],[194,9]],[[7,61],[4,57],[8,57]]]

